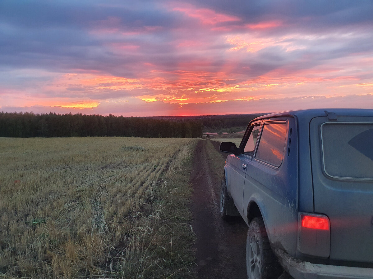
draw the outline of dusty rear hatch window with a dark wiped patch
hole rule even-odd
[[[324,123],[321,138],[327,175],[373,179],[373,123]]]

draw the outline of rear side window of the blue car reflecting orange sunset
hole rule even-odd
[[[264,124],[255,158],[279,167],[285,150],[287,128],[286,122]]]

